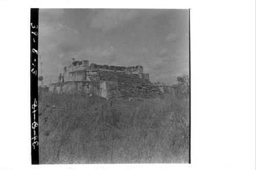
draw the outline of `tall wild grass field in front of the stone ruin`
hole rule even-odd
[[[188,163],[189,100],[39,94],[39,163]]]

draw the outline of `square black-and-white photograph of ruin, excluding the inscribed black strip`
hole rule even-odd
[[[189,9],[39,9],[39,164],[190,162]]]

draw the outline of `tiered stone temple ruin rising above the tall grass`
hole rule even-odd
[[[174,94],[171,86],[153,84],[150,75],[143,73],[141,65],[89,65],[88,60],[82,60],[73,61],[70,69],[66,81],[50,84],[49,91],[129,100],[155,98],[164,93]]]

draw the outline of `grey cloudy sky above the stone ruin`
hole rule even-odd
[[[38,49],[51,83],[75,58],[142,65],[151,81],[175,84],[189,71],[188,10],[39,9]]]

